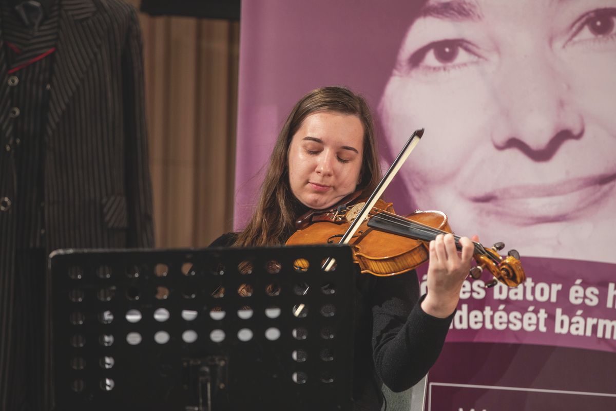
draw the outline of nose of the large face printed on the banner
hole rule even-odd
[[[566,140],[582,137],[584,120],[566,71],[549,51],[518,57],[501,65],[493,89],[498,115],[492,143],[498,150],[517,149],[534,161],[548,161]]]

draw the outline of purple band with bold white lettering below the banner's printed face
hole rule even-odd
[[[466,280],[447,341],[525,343],[616,352],[616,264],[523,258],[515,288]],[[488,274],[484,279],[489,280]],[[420,275],[425,292],[425,274]]]

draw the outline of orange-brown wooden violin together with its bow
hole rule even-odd
[[[297,231],[288,238],[286,245],[349,244],[361,272],[381,277],[411,271],[427,261],[429,242],[439,234],[452,233],[447,216],[440,211],[419,210],[399,216],[394,213],[392,203],[381,200],[384,189],[422,136],[423,129],[413,133],[367,200],[355,201],[362,194],[355,192],[330,210],[308,211],[296,221]],[[460,249],[460,237],[454,238]],[[490,248],[474,242],[473,257],[477,266],[472,267],[469,275],[479,279],[482,271],[487,269],[494,278],[485,284],[486,288],[498,282],[509,287],[524,282],[526,275],[519,253],[510,250],[506,257],[500,256],[498,251],[504,247],[501,242]],[[334,261],[328,259],[323,269],[330,271],[333,266]]]

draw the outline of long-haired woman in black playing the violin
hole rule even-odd
[[[356,190],[370,194],[381,178],[372,116],[345,87],[309,92],[278,134],[256,211],[240,234],[213,246],[282,245],[306,211],[324,210]],[[355,408],[381,410],[381,383],[403,391],[434,364],[458,304],[473,254],[469,238],[439,235],[429,243],[428,293],[415,272],[359,275],[355,328]]]

